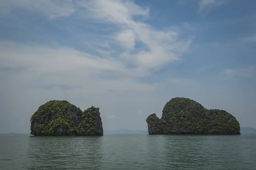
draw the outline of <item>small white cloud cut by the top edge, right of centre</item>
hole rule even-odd
[[[227,0],[200,0],[199,1],[199,13],[202,11],[209,11],[215,6],[221,6],[227,3]]]

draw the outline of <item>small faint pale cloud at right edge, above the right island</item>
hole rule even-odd
[[[247,68],[236,68],[236,69],[224,69],[223,73],[228,78],[235,78],[235,77],[253,77],[255,75],[255,68],[254,66],[250,66]]]

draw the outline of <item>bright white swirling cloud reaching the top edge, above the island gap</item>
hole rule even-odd
[[[149,9],[137,6],[131,1],[121,0],[94,0],[90,3],[79,3],[87,9],[87,17],[92,17],[95,22],[111,23],[123,31],[117,32],[115,40],[131,50],[136,41],[144,43],[148,50],[140,49],[136,54],[122,53],[125,62],[137,65],[137,71],[145,73],[157,70],[166,62],[179,59],[190,45],[190,40],[178,38],[179,34],[171,29],[157,30],[148,24],[133,20],[135,15],[148,16]],[[136,72],[137,72],[136,71]]]

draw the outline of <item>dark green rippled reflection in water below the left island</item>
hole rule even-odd
[[[31,164],[26,169],[99,170],[102,136],[31,136],[27,152]]]

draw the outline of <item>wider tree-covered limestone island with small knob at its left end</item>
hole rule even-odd
[[[146,122],[149,134],[240,134],[240,124],[232,114],[208,110],[183,97],[167,102],[161,119],[153,113]]]

